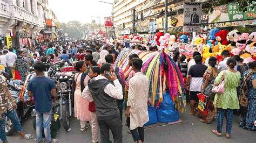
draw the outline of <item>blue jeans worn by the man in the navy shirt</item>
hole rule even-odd
[[[36,141],[43,140],[43,127],[46,142],[51,142],[51,112],[37,112],[36,111]]]

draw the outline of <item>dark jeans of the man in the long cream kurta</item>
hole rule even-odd
[[[126,124],[130,130],[130,117],[127,118]],[[137,127],[134,130],[130,130],[132,133],[133,141],[142,141],[144,142],[144,127]]]

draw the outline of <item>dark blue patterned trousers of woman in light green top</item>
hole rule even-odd
[[[231,128],[233,124],[233,110],[231,109],[217,109],[217,131],[218,133],[221,133],[225,111],[227,112],[226,133],[231,134]]]

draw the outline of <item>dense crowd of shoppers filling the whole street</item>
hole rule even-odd
[[[127,46],[126,46],[127,47]],[[52,140],[50,135],[50,115],[52,101],[56,97],[56,85],[44,76],[44,63],[66,61],[72,64],[77,73],[73,81],[75,117],[80,121],[80,131],[89,126],[92,130],[92,141],[109,141],[111,130],[114,142],[122,142],[122,122],[125,109],[126,125],[129,127],[133,140],[144,142],[144,124],[149,121],[147,102],[149,96],[149,79],[142,73],[143,60],[137,54],[129,56],[132,71],[127,79],[122,68],[114,65],[114,61],[125,48],[125,45],[103,41],[60,41],[50,44],[36,44],[34,47],[24,46],[21,50],[14,48],[0,49],[0,63],[4,71],[14,79],[26,80],[33,67],[37,76],[28,84],[28,94],[34,97],[36,109],[36,140],[42,142],[44,128],[46,142]],[[132,45],[127,48],[140,51],[157,52],[157,46],[150,44]],[[192,59],[186,58],[179,50],[169,53],[177,63],[184,77],[187,89],[186,102],[190,104],[190,115],[198,115],[200,121],[210,124],[217,120],[217,127],[212,130],[217,136],[221,135],[224,113],[226,113],[225,136],[230,138],[233,124],[233,114],[240,115],[239,126],[255,131],[256,104],[256,62],[242,63],[239,56],[231,57],[230,52],[221,52],[222,60],[211,57],[203,62],[199,52],[193,52]],[[2,79],[4,77],[1,77]],[[225,81],[225,93],[214,94],[212,88]],[[14,110],[15,102],[6,88],[4,80],[0,84],[4,94],[1,94],[1,105],[11,101],[12,105],[3,106],[1,120],[1,139],[6,141],[4,131],[4,116],[16,120],[17,131],[22,131]],[[199,110],[198,94],[205,96],[205,111]],[[125,101],[125,107],[123,102]],[[244,105],[244,106],[242,106]],[[241,108],[241,106],[243,108]],[[3,108],[2,108],[3,109]],[[239,110],[240,109],[240,110]],[[11,118],[13,117],[13,118]],[[20,127],[19,127],[20,126]],[[30,134],[19,132],[22,138],[31,139]]]

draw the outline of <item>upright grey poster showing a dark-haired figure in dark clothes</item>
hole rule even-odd
[[[184,3],[184,32],[200,32],[201,3]]]

